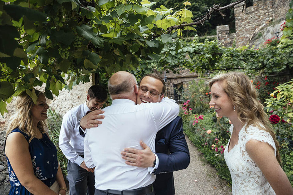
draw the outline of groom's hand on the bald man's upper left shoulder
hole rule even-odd
[[[105,116],[100,115],[103,114],[102,110],[95,110],[85,115],[80,119],[80,126],[83,130],[90,129],[92,127],[97,127],[99,124],[102,124],[102,121],[98,121],[96,119],[103,119]]]

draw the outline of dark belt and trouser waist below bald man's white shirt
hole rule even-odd
[[[144,195],[154,191],[153,184],[148,185],[146,187],[137,188],[134,190],[99,190],[102,192],[106,192],[106,195]]]

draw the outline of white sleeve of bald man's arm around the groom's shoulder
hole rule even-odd
[[[176,118],[179,105],[173,99],[163,98],[161,102],[153,103],[153,114],[159,131]]]

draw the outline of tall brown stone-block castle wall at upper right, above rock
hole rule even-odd
[[[254,0],[253,6],[244,8],[243,12],[243,4],[236,5],[234,7],[236,46],[247,45],[258,27],[284,20],[289,2],[290,0]]]

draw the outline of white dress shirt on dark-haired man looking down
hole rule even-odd
[[[90,111],[86,102],[74,108],[71,108],[63,116],[59,135],[59,147],[65,157],[71,162],[81,165],[84,161],[80,155],[83,155],[83,140],[79,134],[79,119]]]

